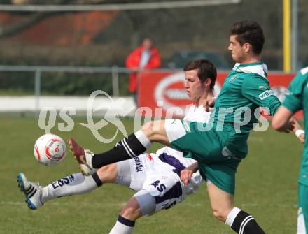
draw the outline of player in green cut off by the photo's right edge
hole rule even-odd
[[[300,70],[290,83],[286,99],[272,119],[272,127],[278,131],[285,131],[288,129],[290,118],[298,110],[304,111],[304,130],[308,131],[308,67]],[[297,234],[305,234],[308,228],[308,144],[305,131],[296,125],[295,128],[297,137],[304,138],[304,153],[298,180]]]

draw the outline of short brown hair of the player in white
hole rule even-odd
[[[202,83],[207,79],[211,79],[210,89],[214,89],[217,76],[216,67],[206,59],[197,59],[186,64],[183,70],[190,71],[195,69],[198,69],[198,78]]]

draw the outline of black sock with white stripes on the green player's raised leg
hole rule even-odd
[[[145,151],[146,147],[141,144],[135,134],[132,134],[128,138],[124,138],[116,143],[113,149],[102,154],[94,154],[92,166],[94,168],[101,168],[111,163],[132,159]]]

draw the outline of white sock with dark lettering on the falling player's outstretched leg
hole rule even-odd
[[[97,187],[97,182],[91,175],[72,174],[43,187],[41,200],[45,203],[53,198],[87,193]]]

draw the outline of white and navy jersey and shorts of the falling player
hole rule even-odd
[[[192,105],[184,119],[209,122],[210,115],[211,113],[206,112],[203,106],[197,108]],[[135,191],[143,189],[150,193],[155,198],[155,212],[181,203],[190,193],[195,193],[202,184],[199,171],[193,174],[187,187],[181,182],[181,170],[195,163],[195,160],[184,158],[182,152],[170,147],[158,149],[156,153],[141,154],[129,161],[128,168],[127,163],[117,163],[117,183],[128,185]],[[128,173],[130,179],[129,182],[125,182]]]

